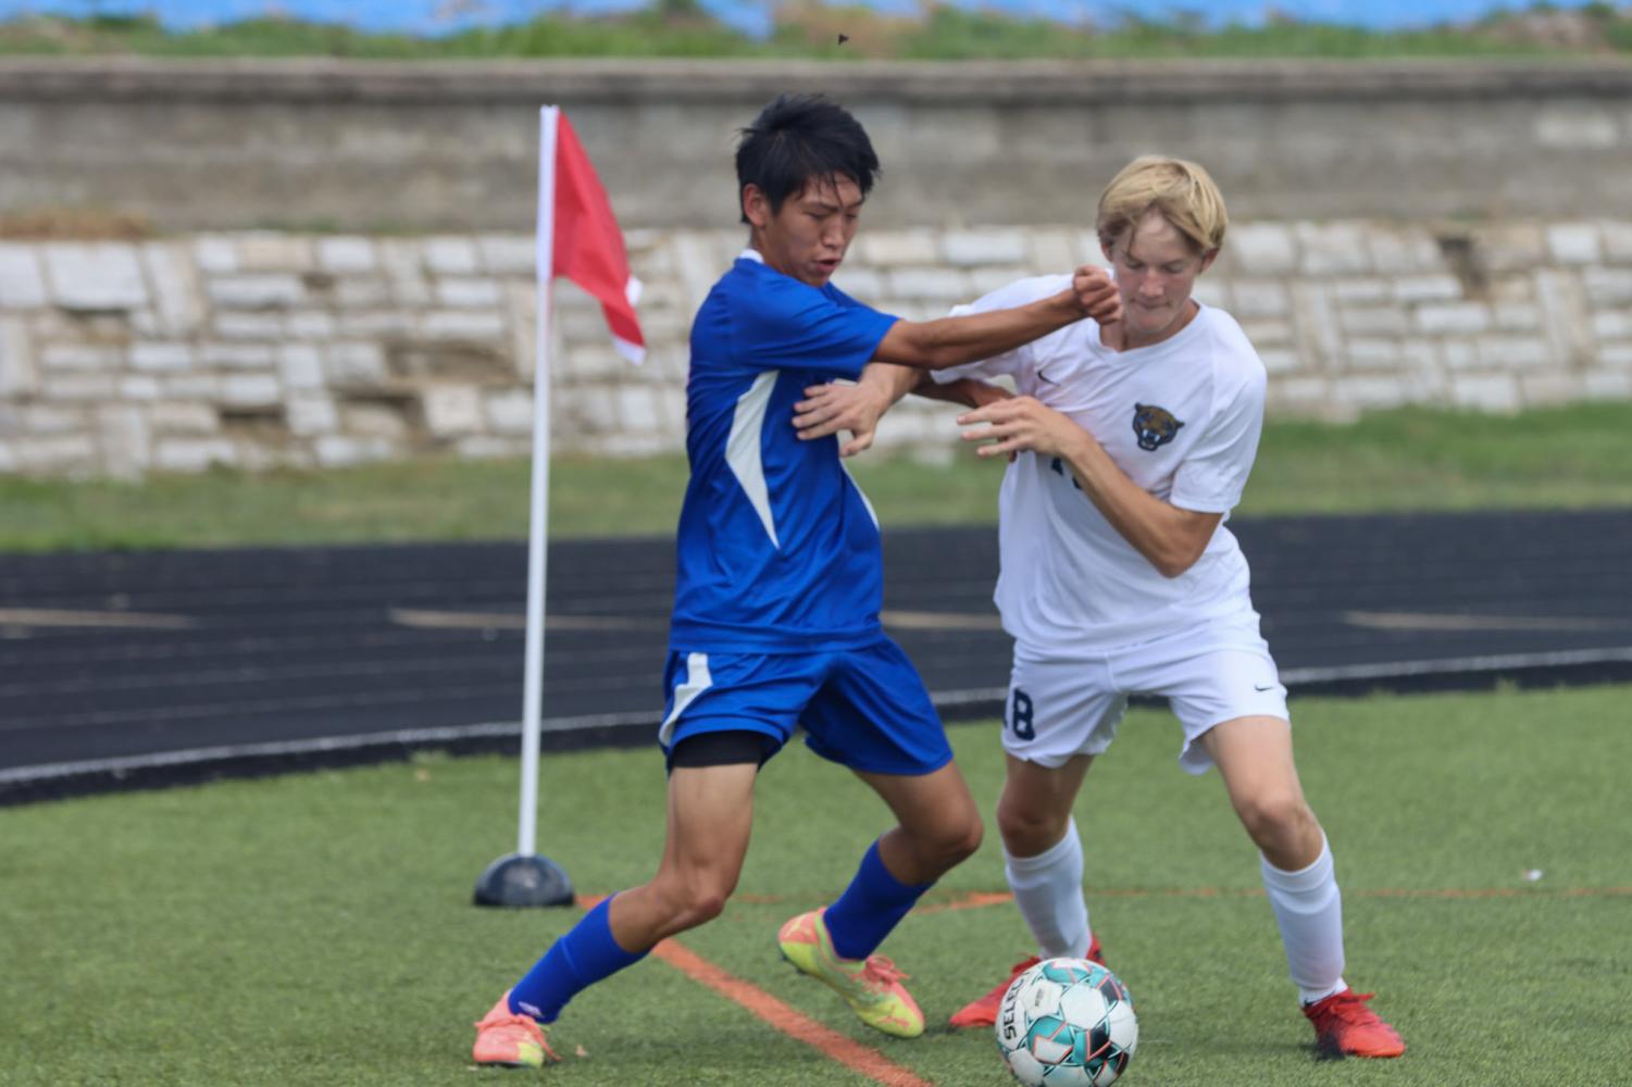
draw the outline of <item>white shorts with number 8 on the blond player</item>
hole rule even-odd
[[[1196,741],[1214,725],[1237,717],[1291,721],[1258,615],[1248,612],[1069,661],[1033,656],[1017,645],[1004,751],[1044,767],[1102,754],[1116,738],[1131,694],[1167,697],[1185,730],[1178,765],[1188,774],[1213,765]]]

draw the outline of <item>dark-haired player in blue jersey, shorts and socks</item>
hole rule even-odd
[[[806,743],[873,787],[896,826],[826,909],[788,921],[782,953],[870,1027],[912,1038],[924,1015],[873,952],[942,873],[981,842],[924,684],[878,620],[878,522],[836,437],[801,441],[808,390],[870,361],[924,370],[1010,351],[1085,315],[1121,313],[1115,284],[971,317],[904,322],[829,282],[878,158],[834,103],[782,96],[736,153],[749,248],[692,323],[679,576],[659,743],[667,841],[656,875],[589,911],[477,1023],[478,1064],[540,1066],[542,1023],[664,937],[718,916],[747,852],[759,767],[803,725]],[[951,398],[960,387],[943,385]]]

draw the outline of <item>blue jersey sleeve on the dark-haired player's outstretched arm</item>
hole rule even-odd
[[[756,370],[801,369],[854,379],[898,320],[837,287],[770,282],[738,308],[736,359]]]

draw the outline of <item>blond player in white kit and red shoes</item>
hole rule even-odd
[[[1263,423],[1265,369],[1229,313],[1191,297],[1224,242],[1208,173],[1144,157],[1105,189],[1098,237],[1123,320],[1080,322],[1023,348],[935,374],[1009,377],[960,418],[982,457],[1012,459],[1000,495],[997,607],[1015,638],[997,808],[1005,873],[1041,958],[1100,960],[1082,894],[1072,805],[1116,734],[1128,695],[1169,699],[1180,765],[1216,765],[1262,854],[1291,978],[1330,1054],[1389,1058],[1399,1033],[1343,981],[1343,914],[1325,832],[1293,762],[1286,689],[1258,632],[1247,560],[1224,527]],[[1022,279],[960,312],[1022,305],[1066,277]],[[821,387],[796,426],[871,441],[883,410],[920,379],[873,366]],[[927,379],[924,379],[927,380]],[[953,1015],[989,1025],[1009,983]]]

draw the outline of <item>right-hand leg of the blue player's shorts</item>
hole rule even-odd
[[[834,653],[801,721],[811,751],[857,774],[924,777],[951,762],[924,681],[888,638]]]

